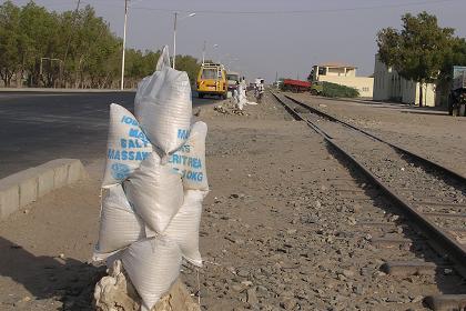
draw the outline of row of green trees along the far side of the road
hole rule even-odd
[[[113,88],[120,82],[122,40],[87,6],[61,13],[32,0],[18,7],[0,4],[0,79],[6,87],[17,78],[28,86]],[[126,86],[134,88],[155,70],[160,51],[126,50]],[[178,69],[194,83],[199,62],[180,56]]]

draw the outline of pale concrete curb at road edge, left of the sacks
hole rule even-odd
[[[0,180],[0,220],[34,202],[38,198],[84,179],[80,160],[57,159]]]

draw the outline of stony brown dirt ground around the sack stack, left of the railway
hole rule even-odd
[[[424,295],[455,291],[456,283],[438,284],[438,274],[379,271],[386,260],[423,252],[386,250],[371,238],[415,233],[269,94],[243,116],[221,111],[196,110],[209,124],[205,264],[199,285],[189,267],[183,280],[193,293],[200,287],[203,310],[425,310]],[[87,263],[98,237],[102,168],[103,160],[91,163],[89,180],[1,222],[0,310],[92,310],[93,284],[104,272]],[[368,221],[386,227],[374,230]]]

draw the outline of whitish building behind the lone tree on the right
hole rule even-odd
[[[403,103],[419,104],[421,83],[399,77],[398,72],[386,67],[375,56],[374,66],[374,100],[391,100]],[[435,84],[423,84],[423,104],[435,106]]]

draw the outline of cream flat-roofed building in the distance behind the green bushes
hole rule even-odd
[[[372,98],[374,78],[356,77],[356,67],[337,62],[327,62],[313,67],[313,81],[325,81],[355,88],[359,96]]]

